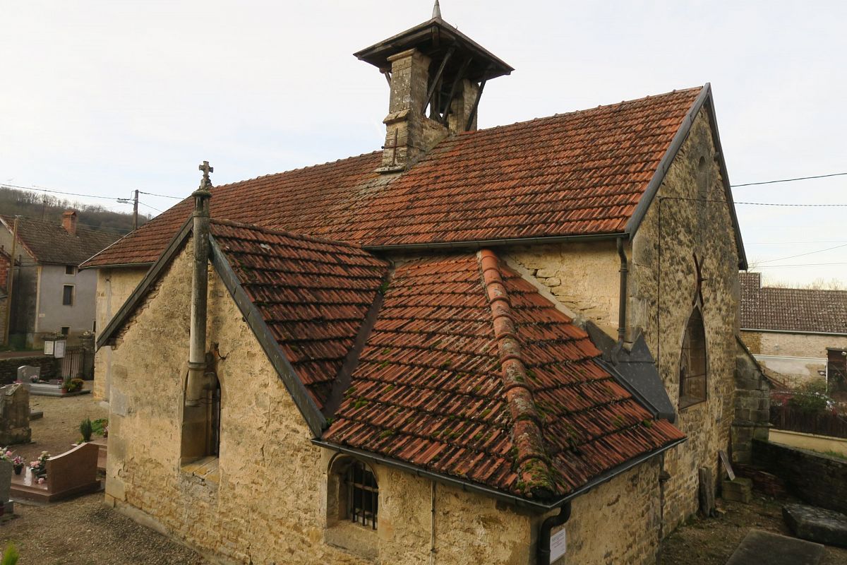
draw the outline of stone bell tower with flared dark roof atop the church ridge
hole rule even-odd
[[[512,72],[441,19],[438,3],[432,19],[355,54],[391,90],[381,173],[408,169],[446,136],[475,130],[485,81]]]

